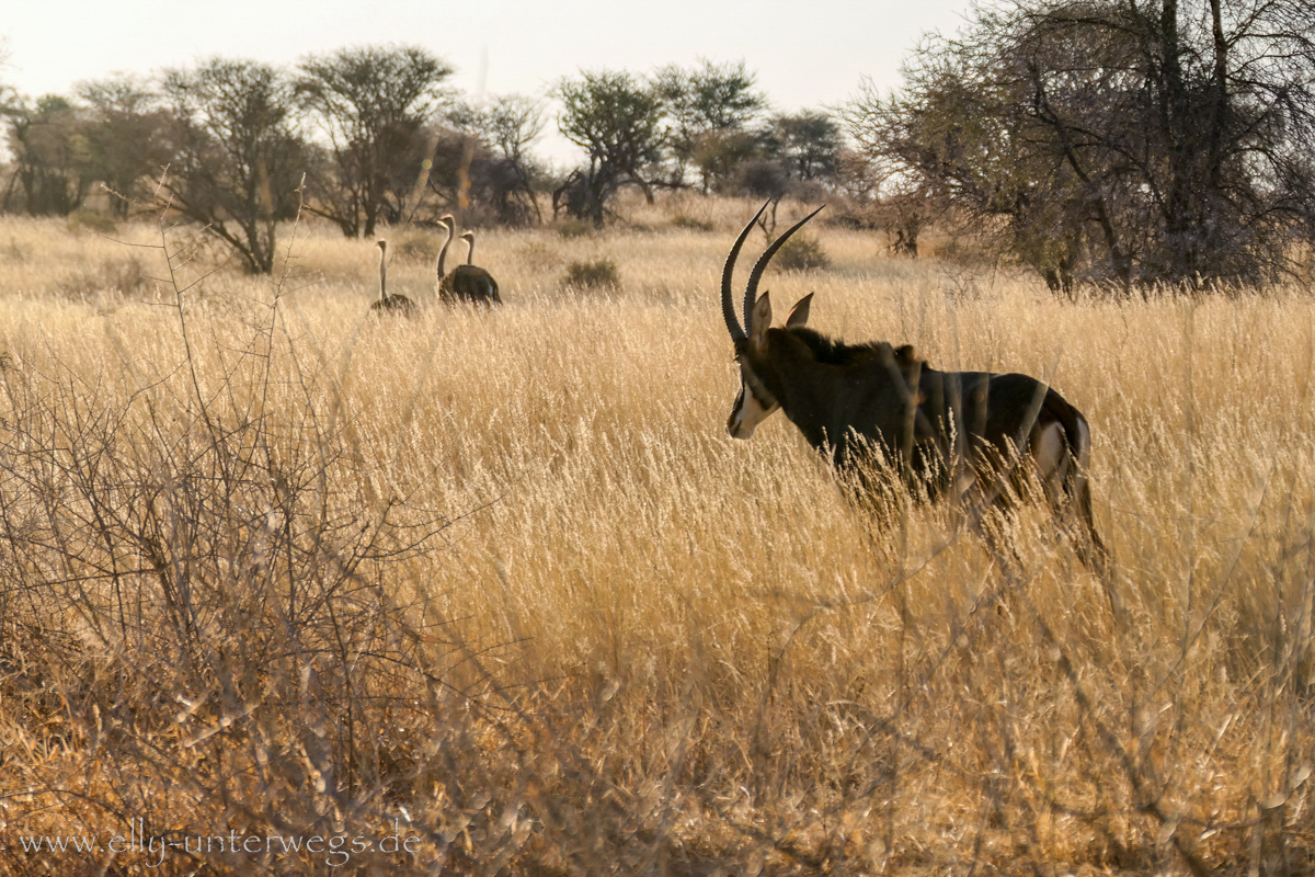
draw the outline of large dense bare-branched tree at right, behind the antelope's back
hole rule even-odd
[[[927,39],[849,131],[1052,285],[1265,283],[1310,235],[1315,16],[1302,0],[1031,0]]]

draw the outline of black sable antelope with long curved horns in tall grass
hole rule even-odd
[[[764,205],[765,209],[765,205]],[[1090,567],[1105,559],[1086,480],[1091,430],[1063,396],[1027,375],[942,372],[910,346],[847,344],[806,326],[813,295],[772,327],[772,302],[757,284],[768,263],[814,210],[785,231],[753,264],[744,288],[744,329],[731,302],[735,259],[757,216],[740,231],[722,270],[722,316],[735,343],[740,389],[726,429],[747,439],[777,409],[832,465],[867,489],[872,464],[896,463],[914,496],[936,498],[969,488],[1007,511],[1009,492],[1027,494],[1035,476],[1057,513],[1076,502],[1086,540],[1078,555]],[[760,209],[759,216],[763,214]],[[974,486],[976,485],[976,486]]]

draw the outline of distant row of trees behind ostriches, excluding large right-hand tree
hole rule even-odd
[[[780,197],[838,166],[838,124],[771,113],[743,63],[562,80],[556,121],[586,156],[563,174],[531,151],[547,101],[471,101],[451,74],[421,47],[366,46],[291,70],[212,58],[154,80],[83,83],[70,97],[9,93],[0,209],[67,216],[107,189],[118,217],[167,201],[262,272],[277,222],[299,205],[348,237],[444,212],[542,222],[537,193],[551,195],[554,213],[602,225],[622,187]]]

